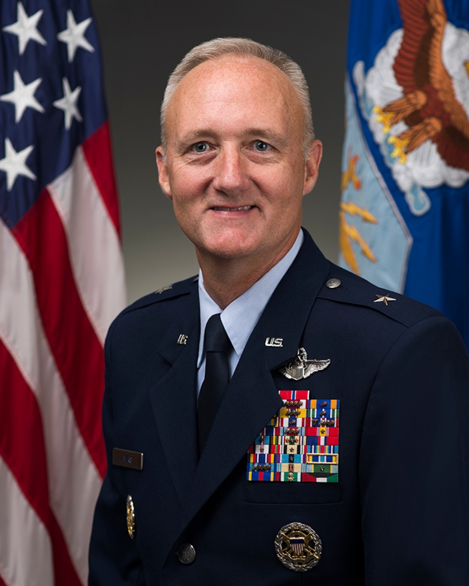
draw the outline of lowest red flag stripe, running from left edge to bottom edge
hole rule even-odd
[[[36,397],[1,341],[0,372],[0,453],[26,499],[49,532],[56,584],[80,586],[81,582],[70,560],[63,534],[49,506],[40,409]]]

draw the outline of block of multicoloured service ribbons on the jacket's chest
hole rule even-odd
[[[284,406],[247,453],[250,482],[338,482],[339,400],[278,391]]]

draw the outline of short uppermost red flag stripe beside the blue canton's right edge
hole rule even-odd
[[[113,220],[119,237],[121,236],[119,204],[117,189],[114,181],[113,155],[111,151],[111,138],[109,124],[104,122],[96,132],[86,139],[81,145],[84,156],[93,173],[98,190],[103,198],[109,215]]]

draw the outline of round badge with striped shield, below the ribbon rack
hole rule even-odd
[[[314,568],[321,557],[322,544],[309,525],[288,523],[280,529],[275,540],[278,559],[288,570],[305,572]]]

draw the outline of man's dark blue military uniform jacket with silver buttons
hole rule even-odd
[[[327,287],[331,278],[341,285]],[[125,309],[106,340],[108,472],[90,585],[468,586],[468,358],[438,311],[395,293],[375,302],[388,293],[329,263],[305,233],[200,459],[196,280]],[[331,363],[287,379],[277,369],[299,347]],[[247,451],[285,389],[340,401],[339,482],[247,481]],[[113,448],[142,452],[143,469],[114,465]],[[304,573],[276,556],[277,532],[292,522],[322,541],[320,561]],[[195,548],[192,564],[176,555],[182,543]]]

